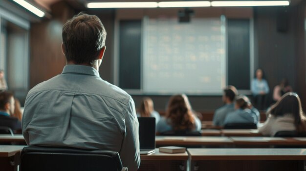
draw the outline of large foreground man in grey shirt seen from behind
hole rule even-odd
[[[62,74],[29,91],[22,134],[27,145],[119,152],[122,165],[137,171],[139,122],[134,100],[99,74],[106,35],[94,15],[80,13],[64,24],[66,66]]]

